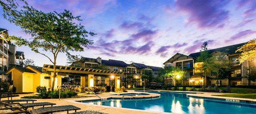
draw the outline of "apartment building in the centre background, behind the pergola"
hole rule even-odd
[[[88,58],[83,57],[81,60],[74,62],[71,66],[78,66],[84,68],[95,68],[95,69],[105,69],[110,71],[122,71],[125,72],[120,76],[120,85],[128,87],[128,85],[143,85],[144,82],[141,80],[141,75],[144,70],[149,70],[153,77],[157,77],[157,71],[160,67],[156,66],[146,66],[142,63],[131,63],[127,64],[120,60],[102,60],[102,58]],[[104,68],[103,68],[104,69]],[[130,77],[129,77],[130,76]],[[131,78],[131,76],[133,78]],[[129,78],[127,78],[129,77]],[[95,76],[95,85],[114,85],[114,79],[111,77]],[[160,84],[160,83],[157,83]]]

